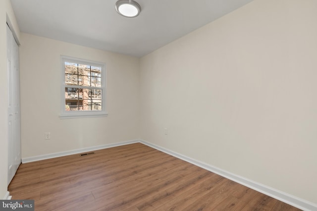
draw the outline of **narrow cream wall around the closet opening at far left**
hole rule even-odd
[[[8,175],[8,128],[7,128],[7,59],[6,59],[6,22],[11,23],[16,39],[20,38],[20,31],[16,23],[14,12],[9,0],[0,1],[0,199],[3,199],[7,192]]]

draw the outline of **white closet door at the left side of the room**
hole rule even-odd
[[[8,70],[8,184],[21,163],[19,47],[10,28],[7,34]]]

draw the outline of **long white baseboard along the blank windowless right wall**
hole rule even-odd
[[[227,179],[230,179],[232,181],[235,181],[237,183],[240,183],[244,186],[247,186],[253,190],[256,190],[256,191],[259,191],[267,196],[270,196],[274,199],[277,199],[279,201],[282,201],[286,204],[289,204],[291,206],[294,206],[298,209],[301,209],[303,211],[317,211],[317,205],[314,204],[314,203],[311,203],[309,201],[306,201],[306,200],[303,200],[303,199],[300,199],[298,197],[295,197],[295,196],[292,196],[290,194],[287,194],[287,193],[284,193],[282,191],[279,191],[279,190],[276,190],[274,188],[271,188],[271,187],[268,187],[266,185],[263,185],[261,183],[258,183],[258,182],[255,182],[255,181],[252,181],[248,178],[244,178],[242,176],[239,176],[239,175],[236,175],[236,174],[233,174],[233,173],[230,173],[228,171],[225,171],[225,170],[222,170],[220,168],[217,168],[215,166],[212,166],[210,164],[207,164],[205,162],[201,162],[199,160],[196,160],[196,159],[193,159],[193,158],[189,158],[187,156],[184,156],[184,155],[181,155],[181,154],[178,154],[178,153],[175,153],[173,151],[170,151],[170,150],[167,150],[165,148],[162,148],[162,147],[159,147],[157,145],[154,145],[154,144],[151,144],[149,142],[146,142],[144,140],[140,140],[140,143],[142,144],[145,144],[149,147],[152,147],[154,149],[157,149],[163,153],[166,153],[168,155],[171,155],[173,157],[176,157],[176,158],[180,158],[182,160],[185,160],[187,162],[190,162],[194,165],[197,165],[199,167],[202,167],[206,170],[209,170],[213,173],[216,173],[220,176],[223,176]]]

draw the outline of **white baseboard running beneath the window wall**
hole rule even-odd
[[[53,154],[47,154],[47,155],[41,155],[41,156],[34,156],[34,157],[28,157],[28,158],[22,158],[22,163],[27,163],[27,162],[33,162],[33,161],[38,161],[38,160],[43,160],[43,159],[50,159],[50,158],[58,158],[62,156],[69,156],[69,155],[74,155],[78,153],[85,153],[85,152],[90,152],[90,151],[95,151],[95,150],[102,150],[106,148],[111,148],[111,147],[118,147],[122,145],[127,145],[127,144],[134,144],[134,143],[139,143],[139,140],[131,140],[131,141],[125,141],[125,142],[119,142],[119,143],[113,143],[113,144],[106,144],[106,145],[100,145],[100,146],[95,146],[95,147],[87,147],[87,148],[82,148],[78,150],[71,150],[71,151],[64,151],[60,153],[53,153]]]

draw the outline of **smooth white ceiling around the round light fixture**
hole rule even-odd
[[[21,32],[116,53],[143,56],[252,0],[136,0],[136,18],[116,0],[11,0]]]

